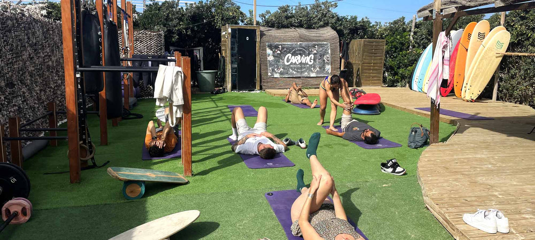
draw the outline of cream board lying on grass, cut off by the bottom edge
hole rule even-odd
[[[167,215],[121,233],[110,240],[162,240],[186,228],[201,212],[189,210]]]

